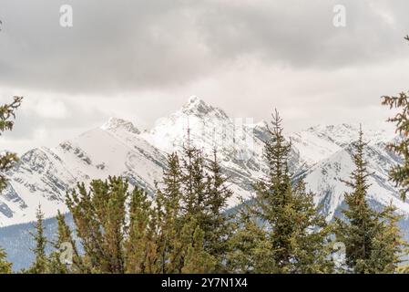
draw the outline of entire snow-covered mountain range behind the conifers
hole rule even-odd
[[[365,129],[370,180],[370,197],[374,204],[393,202],[404,215],[409,203],[399,199],[387,170],[399,159],[385,151],[384,145],[395,139],[393,132]],[[340,179],[348,179],[353,170],[351,142],[357,138],[358,125],[317,126],[289,134],[291,172],[305,176],[315,202],[332,218],[342,206],[347,191]],[[251,184],[264,175],[263,141],[268,138],[267,123],[250,119],[230,119],[218,108],[192,97],[177,112],[158,120],[151,130],[138,130],[131,122],[111,118],[100,128],[77,138],[62,141],[52,149],[27,151],[15,168],[0,195],[0,226],[22,224],[35,219],[41,204],[47,217],[57,210],[66,211],[66,191],[77,182],[122,175],[130,183],[153,193],[166,167],[166,155],[180,151],[190,143],[211,154],[218,149],[224,172],[230,177],[235,193],[229,205],[240,196],[251,196]],[[189,138],[189,139],[188,139]]]

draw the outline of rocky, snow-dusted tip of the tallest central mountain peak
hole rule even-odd
[[[229,118],[223,110],[211,106],[197,96],[191,96],[188,99],[188,102],[182,107],[181,111],[186,115],[194,115],[197,117]]]

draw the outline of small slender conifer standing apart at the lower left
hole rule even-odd
[[[33,235],[36,241],[36,247],[33,249],[36,255],[35,262],[29,268],[30,274],[47,274],[48,273],[48,258],[46,256],[46,235],[44,234],[44,213],[41,211],[41,206],[38,206],[36,211],[36,234]]]

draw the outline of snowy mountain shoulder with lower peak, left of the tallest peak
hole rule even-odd
[[[111,119],[54,149],[28,151],[8,173],[10,183],[0,195],[0,226],[35,220],[39,204],[46,217],[64,212],[66,191],[108,175],[122,175],[152,192],[164,167],[162,151],[138,138],[133,125]]]

